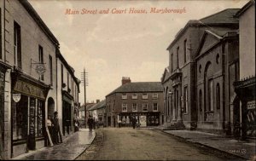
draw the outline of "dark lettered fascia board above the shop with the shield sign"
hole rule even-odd
[[[30,83],[18,80],[17,83],[15,83],[14,90],[26,95],[32,95],[34,97],[42,98],[45,100],[44,89],[40,89]]]

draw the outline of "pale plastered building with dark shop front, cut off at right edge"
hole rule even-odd
[[[234,83],[236,95],[232,119],[234,135],[256,137],[255,110],[255,1],[249,1],[236,14],[239,18],[239,80]],[[234,130],[241,128],[239,130]],[[238,131],[238,132],[236,132]]]

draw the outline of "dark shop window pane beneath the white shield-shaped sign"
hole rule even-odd
[[[27,108],[28,98],[25,95],[20,96],[20,101],[13,101],[13,140],[26,140],[27,136]]]

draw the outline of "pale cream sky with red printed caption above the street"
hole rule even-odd
[[[199,20],[224,9],[240,9],[247,3],[247,0],[28,1],[58,39],[61,55],[73,66],[75,76],[81,79],[84,68],[88,72],[87,102],[105,99],[121,85],[122,77],[131,78],[131,82],[160,82],[169,63],[166,49],[189,20]],[[83,104],[84,86],[80,84],[79,88],[79,102]]]

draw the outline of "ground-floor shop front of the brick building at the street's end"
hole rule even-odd
[[[122,126],[132,126],[132,118],[137,119],[140,127],[160,125],[160,112],[121,112],[118,115]]]

